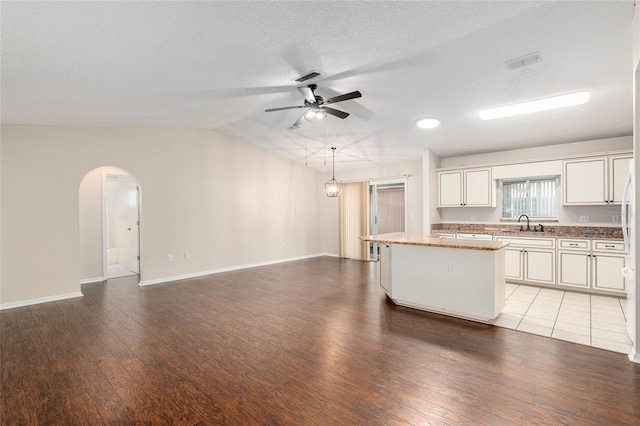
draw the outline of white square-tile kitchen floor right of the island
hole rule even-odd
[[[492,324],[628,354],[626,299],[508,284]]]

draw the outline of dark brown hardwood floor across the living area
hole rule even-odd
[[[640,424],[625,355],[395,306],[316,258],[0,312],[3,425]]]

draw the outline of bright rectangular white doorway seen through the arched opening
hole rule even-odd
[[[107,278],[140,273],[138,185],[131,175],[105,175]]]

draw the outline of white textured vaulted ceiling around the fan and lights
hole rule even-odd
[[[6,2],[3,123],[216,129],[321,171],[632,132],[633,1]],[[505,61],[539,51],[509,71]],[[293,81],[351,113],[288,130]],[[581,106],[478,111],[589,90]],[[442,125],[423,130],[425,116]]]

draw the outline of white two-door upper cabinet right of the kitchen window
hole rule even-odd
[[[632,158],[629,153],[563,161],[563,204],[620,204]]]

